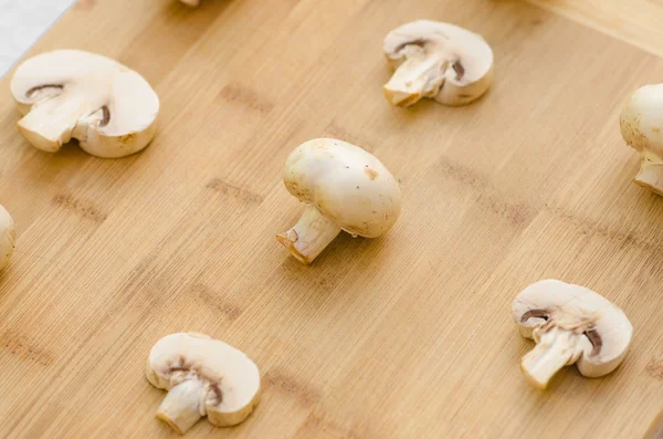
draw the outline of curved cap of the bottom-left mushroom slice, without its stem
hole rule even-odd
[[[159,339],[149,353],[146,376],[152,386],[167,390],[187,379],[203,380],[208,419],[220,427],[240,424],[260,400],[255,363],[204,334],[176,333]]]

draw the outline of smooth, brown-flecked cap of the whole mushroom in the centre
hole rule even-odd
[[[288,192],[352,236],[377,238],[400,213],[401,191],[391,173],[346,142],[317,138],[299,145],[285,163],[283,181]]]

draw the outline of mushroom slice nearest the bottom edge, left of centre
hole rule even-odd
[[[157,342],[147,379],[168,390],[157,418],[185,433],[203,416],[218,427],[242,422],[260,400],[260,372],[244,353],[204,334],[177,333]]]

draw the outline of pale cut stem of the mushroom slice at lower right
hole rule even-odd
[[[579,356],[580,352],[576,348],[579,335],[573,331],[552,326],[547,331],[535,330],[534,336],[536,347],[523,357],[520,369],[532,385],[545,389],[559,369],[573,363]]]

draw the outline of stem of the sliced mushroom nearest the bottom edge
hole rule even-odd
[[[204,383],[187,379],[168,391],[159,406],[157,418],[168,424],[180,435],[189,430],[202,417],[201,410]]]

